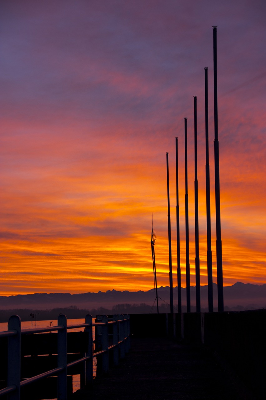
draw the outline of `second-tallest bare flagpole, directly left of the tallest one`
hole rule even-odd
[[[210,164],[209,164],[209,123],[208,123],[208,67],[204,68],[205,78],[205,140],[206,140],[206,216],[207,216],[207,275],[208,310],[213,312],[212,288],[212,240],[210,228]]]

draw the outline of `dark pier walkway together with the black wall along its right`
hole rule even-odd
[[[266,310],[131,315],[131,350],[75,400],[262,400]]]

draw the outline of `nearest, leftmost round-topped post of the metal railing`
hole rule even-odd
[[[7,385],[16,385],[16,390],[8,395],[9,400],[20,400],[20,350],[21,320],[12,315],[8,320],[8,330],[16,330],[15,336],[8,337],[8,378]]]

